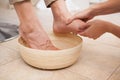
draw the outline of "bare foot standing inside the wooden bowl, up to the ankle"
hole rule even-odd
[[[30,31],[30,27],[36,25],[36,29]],[[26,27],[29,27],[26,30]],[[37,28],[38,27],[38,28]],[[30,32],[28,32],[28,30]],[[42,49],[42,50],[58,50],[52,42],[50,41],[48,35],[43,30],[39,23],[20,25],[20,35],[22,39],[26,42],[26,44],[33,49]]]

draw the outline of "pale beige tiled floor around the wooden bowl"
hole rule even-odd
[[[0,9],[0,21],[16,23],[14,11]],[[9,15],[8,15],[9,14]],[[49,17],[46,20],[46,15]],[[7,17],[6,17],[7,15]],[[46,30],[52,24],[51,13],[38,12]],[[120,25],[119,14],[98,17]],[[44,21],[50,23],[44,24]],[[20,57],[17,39],[0,43],[0,80],[120,80],[120,39],[109,33],[97,40],[83,37],[81,56],[69,68],[45,71],[27,65]]]

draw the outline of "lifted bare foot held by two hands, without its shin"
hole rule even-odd
[[[64,20],[56,20],[54,19],[53,23],[53,30],[55,33],[70,33],[73,32],[75,34],[83,31],[84,28],[86,28],[86,23],[84,23],[81,20],[74,20],[70,24],[66,24],[66,21]]]

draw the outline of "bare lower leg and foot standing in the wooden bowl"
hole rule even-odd
[[[20,20],[20,35],[24,41],[34,49],[56,50],[48,35],[43,30],[30,1],[14,4]]]

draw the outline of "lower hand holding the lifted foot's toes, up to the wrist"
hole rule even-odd
[[[109,27],[109,23],[102,20],[94,20],[87,22],[88,28],[86,28],[83,32],[79,34],[81,36],[97,39],[105,32],[110,32],[111,27]]]

